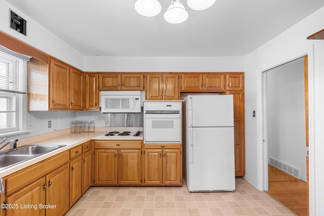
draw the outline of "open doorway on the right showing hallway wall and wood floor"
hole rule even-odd
[[[307,215],[307,56],[263,75],[268,193],[298,215]]]

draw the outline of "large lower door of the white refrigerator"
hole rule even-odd
[[[188,128],[189,191],[235,190],[233,127]]]

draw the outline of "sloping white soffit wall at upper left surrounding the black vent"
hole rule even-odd
[[[9,27],[9,9],[27,21],[27,36]],[[0,0],[0,30],[38,50],[83,70],[83,55],[5,0]]]

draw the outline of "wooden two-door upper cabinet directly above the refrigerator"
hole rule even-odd
[[[224,92],[224,73],[183,73],[181,92]]]

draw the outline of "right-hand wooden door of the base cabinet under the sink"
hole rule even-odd
[[[47,208],[46,215],[64,215],[69,209],[69,164],[47,175],[46,182],[46,203],[56,205],[54,208]]]

